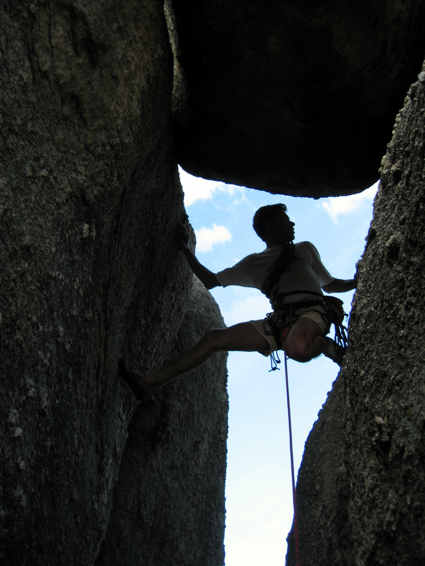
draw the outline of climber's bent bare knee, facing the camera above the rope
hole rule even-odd
[[[314,320],[303,316],[298,319],[286,338],[286,354],[296,362],[309,362],[317,358],[325,348],[320,326]]]

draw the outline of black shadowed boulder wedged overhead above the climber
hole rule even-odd
[[[422,65],[417,0],[173,0],[176,151],[194,175],[295,196],[377,181]]]

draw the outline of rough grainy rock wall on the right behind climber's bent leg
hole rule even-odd
[[[425,561],[425,65],[393,134],[358,264],[346,365],[299,471],[304,566]]]

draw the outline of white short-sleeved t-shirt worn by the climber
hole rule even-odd
[[[281,255],[281,251],[282,246],[274,246],[259,254],[247,255],[233,267],[216,273],[215,277],[223,287],[240,285],[261,290],[264,281],[273,271],[274,262]],[[315,246],[310,242],[295,244],[295,255],[297,259],[285,269],[279,280],[277,293],[273,294],[298,290],[322,293],[322,286],[328,285],[334,277],[322,264]],[[284,302],[295,303],[308,296],[306,293],[290,295],[284,298]]]

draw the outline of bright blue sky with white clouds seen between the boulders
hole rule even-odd
[[[334,277],[354,276],[372,220],[377,184],[358,195],[314,200],[206,181],[181,169],[180,180],[197,235],[197,257],[211,271],[264,250],[252,229],[252,217],[262,205],[283,202],[295,222],[295,242],[312,242]],[[211,293],[228,326],[262,319],[270,311],[269,302],[256,289],[232,286]],[[337,296],[349,312],[352,292]],[[286,555],[293,513],[286,392],[284,371],[269,373],[269,369],[269,358],[256,352],[229,354],[227,566],[281,566]],[[305,440],[338,366],[324,356],[306,364],[290,360],[288,374],[298,470]]]

